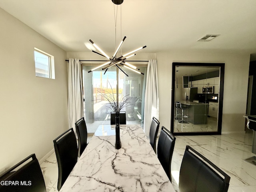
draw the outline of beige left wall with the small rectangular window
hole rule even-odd
[[[0,9],[0,170],[40,160],[68,129],[66,52]],[[35,76],[34,47],[54,56],[55,79]]]

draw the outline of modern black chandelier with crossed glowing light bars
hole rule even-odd
[[[117,5],[122,4],[123,1],[124,1],[124,0],[112,0],[112,2],[113,2],[114,4],[117,4]],[[125,62],[125,60],[128,59],[128,58],[131,58],[132,56],[135,56],[135,55],[136,55],[136,54],[134,54],[135,52],[146,48],[146,46],[137,48],[137,49],[135,49],[135,50],[133,50],[133,51],[131,51],[131,52],[128,52],[128,53],[126,53],[126,54],[124,54],[124,55],[121,55],[120,57],[117,57],[117,56],[116,56],[117,53],[118,53],[118,51],[120,50],[122,44],[124,43],[124,40],[125,40],[125,39],[126,39],[126,36],[124,36],[123,40],[120,42],[120,44],[119,44],[119,46],[117,47],[116,51],[114,52],[112,58],[110,58],[100,47],[98,47],[92,40],[90,40],[90,42],[92,43],[92,45],[93,45],[100,53],[99,53],[99,52],[96,52],[96,51],[94,51],[94,50],[92,50],[92,52],[94,52],[94,53],[96,53],[96,54],[98,54],[98,55],[100,55],[100,56],[103,56],[104,58],[107,58],[109,61],[106,62],[106,63],[104,63],[104,64],[102,64],[102,65],[100,65],[100,66],[98,66],[98,67],[93,68],[92,70],[88,71],[88,73],[90,73],[90,72],[92,72],[92,71],[94,71],[94,70],[97,70],[97,69],[99,69],[99,68],[102,68],[102,70],[106,70],[106,71],[107,71],[108,68],[110,68],[110,67],[112,67],[112,66],[116,66],[116,67],[118,67],[126,76],[128,76],[128,75],[120,68],[120,66],[124,66],[124,67],[126,67],[126,68],[128,68],[128,69],[130,69],[130,70],[132,70],[132,71],[134,71],[134,72],[137,72],[137,73],[139,73],[139,74],[144,75],[144,73],[140,72],[140,69],[139,69],[139,68],[137,68],[136,66],[134,66],[134,65],[132,65],[132,64],[130,64],[130,63],[128,63],[128,62]],[[118,65],[119,65],[119,66],[118,66]],[[104,74],[106,73],[106,71],[104,72]]]

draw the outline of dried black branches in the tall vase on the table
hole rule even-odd
[[[116,117],[119,117],[119,114],[120,114],[120,111],[122,110],[122,108],[131,105],[130,104],[130,96],[129,96],[129,94],[124,96],[119,102],[118,99],[115,98],[115,96],[114,96],[114,91],[113,91],[111,85],[110,85],[110,87],[111,87],[112,93],[105,91],[107,94],[102,94],[102,97],[104,97],[110,104],[110,106],[106,106],[106,107],[110,108],[113,112],[115,112]],[[118,90],[117,90],[116,94],[118,94]]]

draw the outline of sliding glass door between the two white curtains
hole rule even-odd
[[[146,66],[140,66],[145,75],[137,74],[129,69],[122,68],[128,75],[118,71],[115,66],[108,68],[106,74],[101,69],[88,73],[95,65],[82,65],[84,88],[84,117],[87,130],[94,133],[98,126],[110,124],[110,112],[108,101],[104,95],[118,94],[119,100],[127,96],[129,105],[122,109],[126,112],[126,124],[143,124],[144,93],[146,82]],[[118,83],[118,90],[116,85]]]

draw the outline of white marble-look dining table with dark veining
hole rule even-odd
[[[60,192],[175,192],[140,125],[100,125]]]

